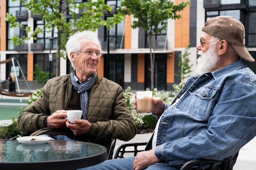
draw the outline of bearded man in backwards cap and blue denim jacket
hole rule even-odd
[[[189,160],[235,155],[256,136],[256,75],[247,66],[254,58],[245,49],[243,24],[218,16],[202,31],[197,75],[171,105],[153,98],[159,120],[145,151],[88,169],[178,170]]]

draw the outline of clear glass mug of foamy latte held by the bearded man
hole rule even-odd
[[[136,92],[136,111],[139,115],[151,115],[153,110],[153,91]]]

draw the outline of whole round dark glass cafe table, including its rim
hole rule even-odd
[[[104,146],[82,141],[50,140],[40,145],[0,141],[0,170],[75,170],[106,158]]]

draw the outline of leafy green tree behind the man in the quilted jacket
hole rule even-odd
[[[12,37],[12,41],[16,44],[22,44],[24,40],[34,38],[43,31],[54,32],[57,30],[57,49],[56,49],[56,76],[60,75],[60,57],[65,57],[64,51],[67,37],[77,31],[92,30],[96,31],[99,25],[106,26],[108,29],[124,20],[124,15],[115,14],[103,20],[103,11],[111,11],[111,7],[104,3],[104,0],[88,0],[88,2],[77,3],[77,0],[20,0],[26,4],[26,8],[31,10],[33,14],[42,14],[42,20],[45,23],[44,29],[39,27],[31,30],[30,26],[24,28],[20,22],[16,22],[16,17],[12,13],[7,13],[5,22],[9,22],[11,27],[19,27],[26,30],[27,37]],[[82,15],[78,15],[77,11],[81,9]],[[67,19],[64,13],[71,14],[71,18]]]

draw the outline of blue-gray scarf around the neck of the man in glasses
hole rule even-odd
[[[87,119],[87,108],[88,108],[88,99],[89,94],[88,90],[92,87],[92,85],[95,82],[95,79],[97,77],[97,72],[92,75],[90,79],[87,79],[84,84],[79,84],[76,82],[76,79],[74,77],[76,71],[72,70],[71,73],[71,82],[74,86],[74,89],[77,90],[77,93],[80,94],[80,100],[81,100],[81,109],[83,111],[83,119]]]

